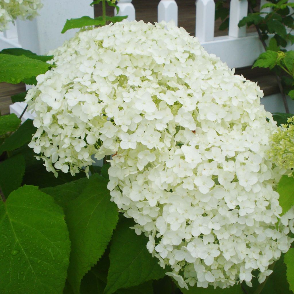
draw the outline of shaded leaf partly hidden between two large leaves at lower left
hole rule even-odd
[[[89,180],[85,177],[59,186],[43,188],[42,192],[52,196],[55,202],[66,211],[68,204],[81,195],[88,183]]]

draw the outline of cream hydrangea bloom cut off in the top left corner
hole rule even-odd
[[[0,31],[7,29],[10,21],[33,19],[43,5],[41,0],[0,0]]]

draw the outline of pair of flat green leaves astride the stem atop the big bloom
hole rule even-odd
[[[120,22],[123,19],[126,19],[128,16],[106,16],[106,21],[111,21],[113,23]],[[61,31],[61,33],[65,33],[70,29],[79,29],[83,26],[101,26],[104,24],[102,16],[95,17],[92,19],[90,16],[82,16],[78,19],[67,19],[66,23]]]

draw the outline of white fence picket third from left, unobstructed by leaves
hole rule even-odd
[[[200,42],[213,40],[215,12],[216,5],[213,0],[196,2],[196,37]]]

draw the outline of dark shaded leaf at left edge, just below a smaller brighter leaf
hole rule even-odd
[[[27,119],[4,143],[0,146],[0,154],[3,151],[12,151],[16,148],[29,143],[33,134],[36,133],[36,128],[31,119]]]

